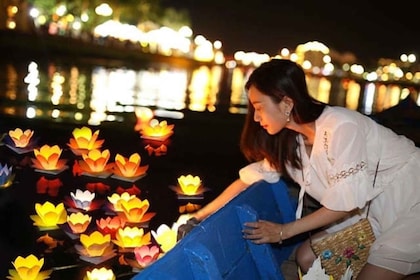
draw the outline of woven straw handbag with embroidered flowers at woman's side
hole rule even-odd
[[[374,186],[378,166],[379,162],[373,180]],[[348,267],[353,271],[353,279],[357,279],[357,275],[367,263],[370,247],[375,241],[372,226],[367,219],[369,208],[370,201],[366,218],[337,232],[310,239],[312,250],[320,257],[322,267],[334,279],[341,279]]]

